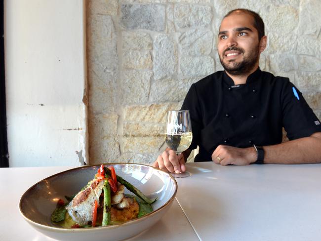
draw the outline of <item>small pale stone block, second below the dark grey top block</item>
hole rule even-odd
[[[151,53],[145,51],[126,51],[123,53],[122,66],[124,69],[145,70],[153,68]]]

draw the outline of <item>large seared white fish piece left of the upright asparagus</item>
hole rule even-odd
[[[92,221],[92,209],[95,200],[99,206],[99,197],[103,191],[104,180],[95,181],[80,191],[75,198],[66,206],[69,215],[72,217],[74,222],[79,225],[86,225],[89,221]]]

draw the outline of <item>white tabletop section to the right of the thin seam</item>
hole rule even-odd
[[[177,200],[202,241],[320,241],[321,164],[190,163]]]

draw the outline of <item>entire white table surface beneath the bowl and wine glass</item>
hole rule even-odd
[[[30,186],[70,168],[0,168],[0,241],[52,240],[23,220],[18,203]],[[187,170],[192,176],[176,179],[170,210],[155,228],[130,241],[321,240],[321,164],[198,162]]]

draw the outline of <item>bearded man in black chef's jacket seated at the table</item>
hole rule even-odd
[[[321,162],[321,124],[301,92],[259,69],[266,44],[257,13],[236,9],[223,18],[217,48],[225,71],[192,84],[182,106],[190,110],[192,144],[179,156],[166,149],[154,166],[183,172],[197,146],[195,161],[221,165]],[[288,142],[281,143],[282,127]]]

